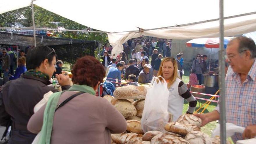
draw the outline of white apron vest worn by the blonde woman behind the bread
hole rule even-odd
[[[184,98],[179,95],[178,87],[181,79],[176,78],[176,81],[169,88],[168,112],[173,114],[173,122],[182,115]]]

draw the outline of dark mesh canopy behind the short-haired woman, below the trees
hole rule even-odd
[[[70,39],[66,38],[36,36],[36,45],[44,45],[54,48],[58,59],[69,63],[75,63],[77,58],[85,55],[94,56],[94,51],[98,44],[97,41],[72,39],[71,42]],[[34,45],[34,38],[33,35],[0,31],[0,45]]]

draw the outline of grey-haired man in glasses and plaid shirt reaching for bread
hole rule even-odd
[[[235,133],[232,140],[256,136],[256,46],[250,38],[237,37],[226,49],[232,72],[225,78],[226,122],[246,127],[243,134]],[[206,114],[194,114],[202,119],[202,126],[219,120],[219,106]]]

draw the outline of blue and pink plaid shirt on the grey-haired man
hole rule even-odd
[[[238,73],[230,72],[225,78],[226,122],[247,127],[256,125],[256,62],[254,61],[246,80],[241,83]],[[219,111],[219,105],[216,107]],[[232,140],[242,140],[242,134],[235,133]]]

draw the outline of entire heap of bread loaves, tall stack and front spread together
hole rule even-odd
[[[127,120],[127,131],[111,134],[111,144],[219,144],[220,138],[211,138],[200,131],[202,120],[191,114],[181,115],[176,122],[165,125],[164,131],[143,132],[141,116],[147,88],[128,85],[117,88],[112,96],[106,95]],[[138,99],[133,101],[134,99]]]

